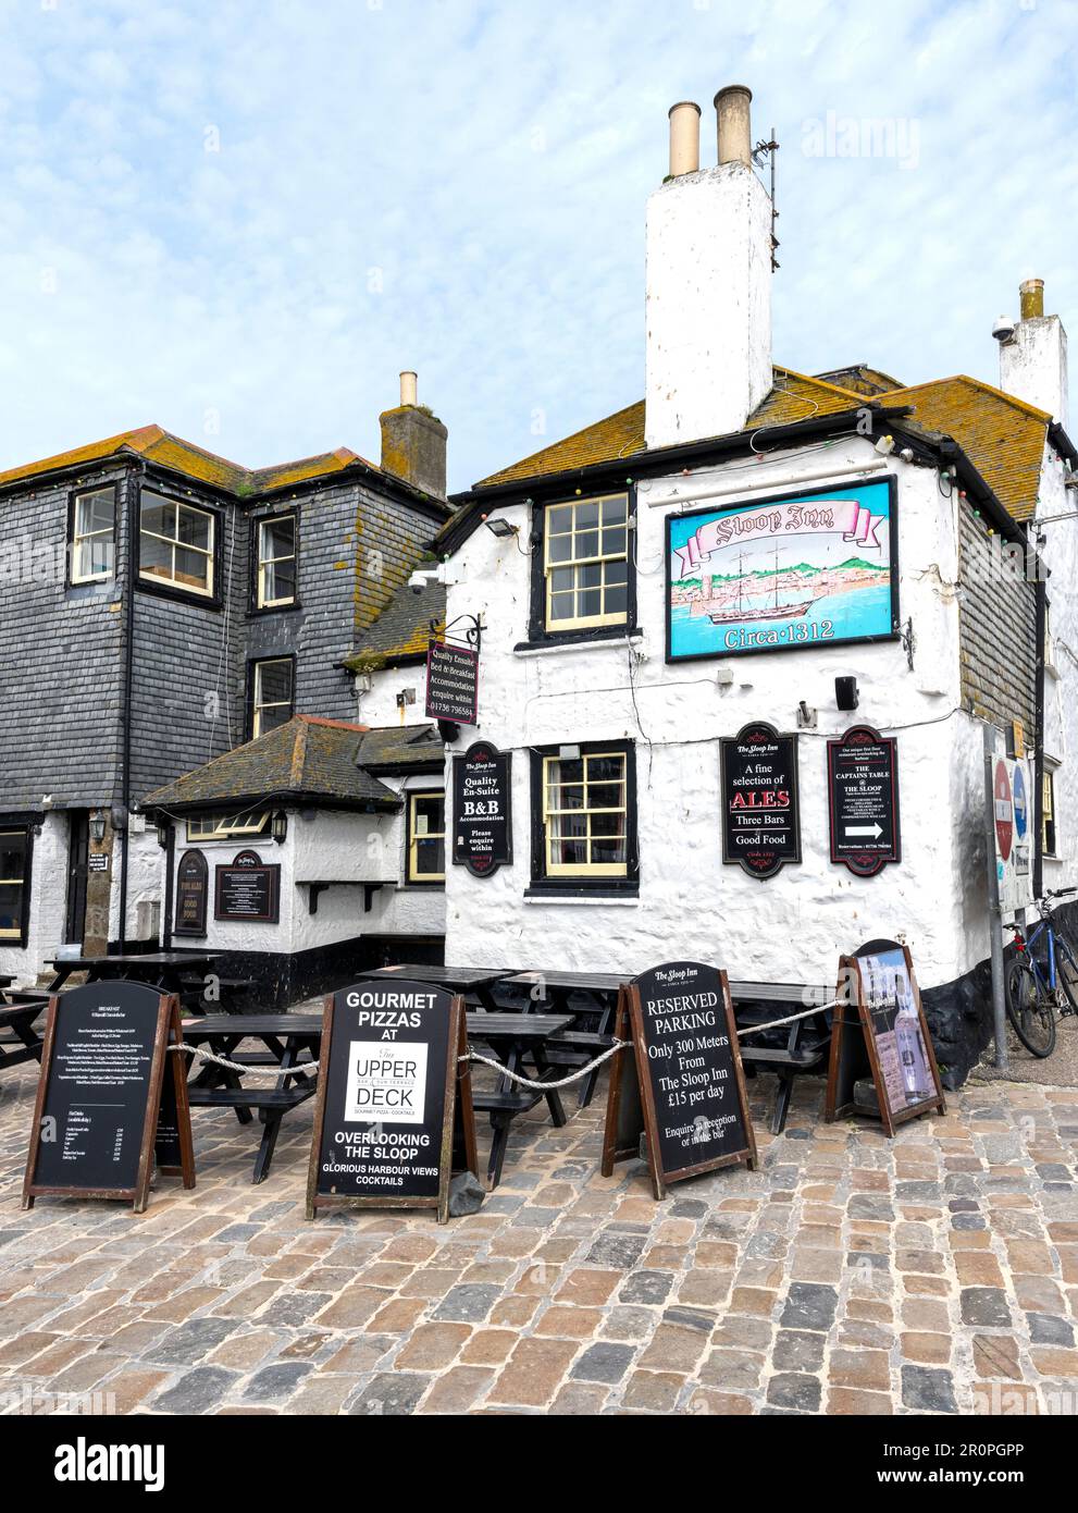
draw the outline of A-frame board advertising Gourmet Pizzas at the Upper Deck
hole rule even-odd
[[[478,1173],[464,1000],[367,979],[325,1000],[307,1218],[324,1207],[437,1209]]]

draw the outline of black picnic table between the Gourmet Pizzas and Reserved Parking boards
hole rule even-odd
[[[476,1012],[467,1015],[467,1038],[469,1044],[479,1041],[487,1045],[506,1071],[520,1073],[532,1082],[556,1082],[562,1068],[553,1062],[552,1052],[558,1036],[568,1029],[573,1018],[572,1014]],[[526,1061],[531,1061],[534,1073],[525,1071]],[[565,1111],[556,1089],[543,1092],[541,1088],[522,1088],[510,1077],[500,1076],[494,1091],[485,1092],[476,1088],[473,1080],[472,1103],[476,1111],[490,1114],[490,1126],[494,1132],[487,1162],[491,1188],[496,1188],[502,1179],[510,1126],[520,1114],[534,1109],[541,1098],[546,1098],[553,1123],[562,1126]]]

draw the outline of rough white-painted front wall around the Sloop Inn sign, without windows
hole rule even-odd
[[[880,468],[898,480],[900,607],[903,622],[913,620],[913,670],[898,643],[667,666],[668,513],[706,504],[702,496],[732,484],[738,492],[724,502],[815,487],[821,472],[850,483],[859,469]],[[514,652],[526,640],[529,564],[514,542],[473,533],[454,558],[449,616],[482,613],[488,625],[481,729],[514,752],[516,861],[491,879],[449,868],[446,961],[640,970],[702,956],[739,977],[830,982],[841,952],[875,935],[903,935],[930,986],[987,956],[981,726],[959,710],[957,507],[957,495],[942,496],[934,471],[894,455],[883,463],[860,437],[641,486],[643,634],[633,649],[620,640]],[[523,505],[499,505],[499,513],[526,539]],[[640,658],[635,705],[630,658]],[[842,673],[860,685],[853,714],[835,707]],[[801,699],[819,711],[818,732],[800,740],[804,859],[760,882],[721,861],[718,738],[756,719],[795,731]],[[854,723],[898,734],[903,861],[871,879],[829,861],[822,737]],[[637,743],[638,902],[526,900],[528,747],[624,737]]]

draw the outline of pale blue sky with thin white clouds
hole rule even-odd
[[[1078,333],[1073,0],[0,0],[0,466],[150,421],[376,460],[416,368],[461,489],[640,399],[667,109],[706,165],[735,82],[776,360],[996,381],[1031,274]]]

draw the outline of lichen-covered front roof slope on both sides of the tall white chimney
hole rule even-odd
[[[794,372],[792,368],[776,368],[774,387],[767,399],[748,416],[744,430],[754,431],[762,425],[786,425],[791,421],[806,421],[813,415],[838,415],[856,409],[865,396],[838,384]],[[630,404],[615,415],[608,415],[596,425],[587,425],[552,446],[544,446],[531,457],[482,478],[476,489],[488,484],[513,483],[517,478],[537,478],[547,474],[588,468],[593,463],[618,461],[644,451],[644,401]]]

